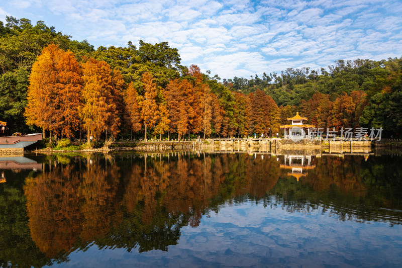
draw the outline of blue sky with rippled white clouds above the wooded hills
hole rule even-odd
[[[98,47],[167,41],[183,65],[221,78],[402,56],[400,0],[3,0],[6,16],[38,20]]]

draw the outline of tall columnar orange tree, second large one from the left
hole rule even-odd
[[[117,106],[113,93],[112,69],[105,61],[87,59],[82,65],[84,88],[82,90],[82,109],[80,118],[83,128],[89,137],[99,137],[104,131],[110,129],[114,135],[118,133],[120,125]]]

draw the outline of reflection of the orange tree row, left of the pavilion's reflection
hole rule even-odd
[[[24,190],[31,236],[52,257],[91,241],[167,250],[182,226],[198,226],[210,208],[246,193],[263,196],[277,180],[266,174],[278,168],[248,155],[189,153],[130,156],[129,164],[113,155],[48,162]]]

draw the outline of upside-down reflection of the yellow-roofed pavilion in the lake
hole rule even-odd
[[[291,169],[287,172],[288,176],[294,176],[298,181],[300,177],[306,176],[308,169],[314,169],[316,165],[312,164],[311,155],[285,155],[285,163],[279,167],[283,169]]]

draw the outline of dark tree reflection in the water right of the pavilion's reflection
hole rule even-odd
[[[289,212],[320,210],[341,220],[401,223],[402,170],[397,161],[383,159],[366,162],[358,155],[318,158],[316,168],[299,183],[279,180],[269,195],[279,198]]]

